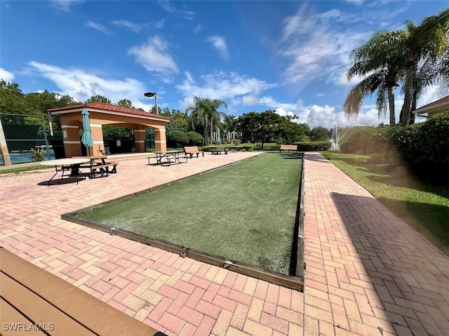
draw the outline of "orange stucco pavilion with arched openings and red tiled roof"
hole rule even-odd
[[[83,105],[47,110],[51,115],[60,116],[66,157],[81,156],[83,145],[79,137],[79,129],[83,124],[81,111],[84,108],[88,110],[91,121],[93,139],[93,145],[89,148],[91,155],[105,155],[103,125],[121,126],[134,130],[137,153],[145,153],[145,129],[151,127],[154,129],[156,151],[166,151],[166,123],[170,121],[170,118],[131,107],[88,102]]]

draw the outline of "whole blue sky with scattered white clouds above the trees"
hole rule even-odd
[[[25,93],[127,98],[185,110],[217,98],[236,116],[275,109],[309,126],[377,125],[373,100],[347,120],[349,53],[446,1],[0,1],[0,77]],[[439,98],[430,88],[420,105]],[[401,92],[396,90],[396,108]],[[397,115],[398,113],[396,113]]]

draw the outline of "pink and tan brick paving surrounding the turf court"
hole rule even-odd
[[[79,185],[0,176],[1,246],[168,335],[449,335],[449,259],[320,154],[305,161],[304,293],[60,219],[255,154],[120,161]]]

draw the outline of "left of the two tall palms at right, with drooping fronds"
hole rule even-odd
[[[367,43],[351,51],[349,58],[352,66],[347,72],[347,79],[351,80],[354,76],[366,77],[349,90],[344,100],[343,109],[347,116],[357,115],[363,100],[377,92],[379,116],[387,113],[388,106],[390,125],[396,123],[394,89],[403,76],[403,53],[391,40],[403,39],[404,34],[401,31],[380,31]]]

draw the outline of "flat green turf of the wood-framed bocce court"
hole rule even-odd
[[[261,154],[81,216],[288,275],[301,162]]]

